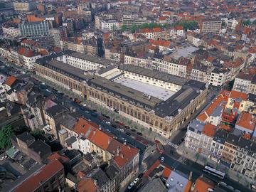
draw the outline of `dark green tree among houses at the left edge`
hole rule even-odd
[[[11,135],[13,134],[11,126],[5,125],[0,130],[0,148],[9,149],[11,147]]]

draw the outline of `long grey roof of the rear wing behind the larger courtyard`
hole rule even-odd
[[[171,75],[169,73],[164,73],[158,70],[151,70],[147,68],[142,68],[135,65],[119,65],[120,70],[126,70],[128,72],[137,73],[139,75],[144,75],[149,78],[154,78],[157,80],[162,80],[164,82],[171,82],[176,85],[183,85],[187,80],[185,78],[178,77],[176,75]]]

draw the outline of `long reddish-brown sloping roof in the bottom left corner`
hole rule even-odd
[[[49,164],[43,166],[40,171],[37,171],[27,180],[23,181],[21,185],[16,187],[14,191],[16,192],[27,192],[36,191],[37,188],[41,186],[41,183],[45,183],[49,178],[55,176],[60,170],[64,169],[60,161],[50,161]]]

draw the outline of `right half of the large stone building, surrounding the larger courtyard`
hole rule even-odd
[[[205,102],[207,87],[203,82],[133,65],[120,65],[117,70],[121,75],[110,80],[90,80],[87,99],[163,137],[169,138]]]

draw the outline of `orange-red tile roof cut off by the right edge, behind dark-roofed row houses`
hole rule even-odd
[[[235,125],[253,132],[256,125],[256,117],[254,114],[250,114],[249,112],[241,112]]]

